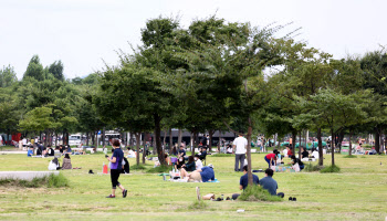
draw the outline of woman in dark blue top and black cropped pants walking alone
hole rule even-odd
[[[121,149],[121,143],[118,139],[115,139],[112,146],[114,148],[113,156],[111,158],[106,156],[107,160],[112,162],[111,165],[112,194],[107,196],[106,198],[116,197],[115,193],[116,193],[117,186],[119,187],[119,189],[123,190],[123,198],[126,198],[127,190],[118,182],[118,178],[122,169],[122,161],[124,159],[124,152]]]

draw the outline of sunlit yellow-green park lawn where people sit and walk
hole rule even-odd
[[[253,168],[264,169],[264,155],[253,154]],[[331,156],[325,156],[325,164]],[[289,159],[286,159],[289,161]],[[0,155],[0,170],[46,170],[49,158],[24,155]],[[62,161],[62,160],[60,160]],[[163,181],[163,177],[130,171],[119,181],[129,190],[126,199],[106,199],[111,181],[101,172],[104,155],[72,156],[73,167],[61,171],[69,188],[0,187],[1,220],[384,220],[387,217],[387,157],[343,158],[336,155],[339,173],[274,173],[282,202],[206,201],[207,207],[192,210],[195,187],[202,194],[217,197],[240,192],[240,172],[233,171],[234,159],[208,156],[219,183],[180,183]],[[135,159],[129,159],[130,165]],[[381,165],[380,165],[381,162]],[[151,167],[148,161],[147,167]],[[262,173],[257,173],[262,178]],[[287,201],[296,197],[296,202]],[[245,210],[237,213],[238,209]]]

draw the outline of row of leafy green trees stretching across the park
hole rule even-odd
[[[216,17],[188,28],[170,18],[148,20],[140,30],[143,44],[121,51],[118,65],[72,81],[64,80],[61,62],[43,69],[34,56],[22,81],[10,66],[0,73],[1,128],[50,135],[109,126],[132,131],[137,140],[153,133],[161,164],[161,130],[187,129],[194,140],[198,133],[208,131],[211,139],[215,130],[242,131],[249,140],[249,178],[257,133],[292,134],[295,140],[302,131],[316,131],[321,166],[322,131],[333,138],[375,134],[379,151],[387,117],[385,50],[334,60],[294,41],[297,30],[281,36],[283,28]]]

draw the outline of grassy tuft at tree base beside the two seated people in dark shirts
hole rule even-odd
[[[238,197],[241,201],[282,201],[283,199],[278,196],[272,196],[268,190],[261,186],[248,186],[241,196]]]

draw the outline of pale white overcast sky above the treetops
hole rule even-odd
[[[334,57],[364,54],[387,45],[385,0],[0,0],[0,67],[21,78],[33,54],[44,66],[64,63],[66,78],[117,63],[115,50],[140,43],[140,29],[158,15],[192,19],[217,10],[227,21],[263,27],[294,22],[297,40]]]

